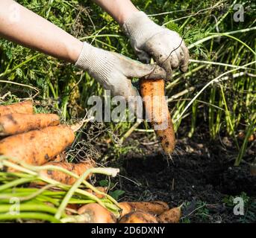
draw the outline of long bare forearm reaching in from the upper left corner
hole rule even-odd
[[[0,36],[61,60],[75,62],[83,43],[16,1],[0,1]]]

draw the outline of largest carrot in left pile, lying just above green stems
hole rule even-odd
[[[0,141],[0,155],[16,158],[27,164],[42,165],[51,161],[75,140],[69,126],[49,126]]]

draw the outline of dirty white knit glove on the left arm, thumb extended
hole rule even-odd
[[[157,65],[144,65],[131,60],[122,54],[104,51],[84,42],[84,47],[78,57],[76,66],[86,70],[104,89],[114,96],[137,96],[137,89],[132,86],[132,77],[148,79],[165,78],[166,72]]]

